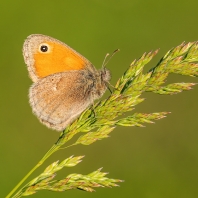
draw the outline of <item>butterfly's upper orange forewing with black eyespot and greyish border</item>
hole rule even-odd
[[[23,45],[23,56],[33,82],[54,73],[87,69],[94,66],[65,43],[49,36],[33,34]]]

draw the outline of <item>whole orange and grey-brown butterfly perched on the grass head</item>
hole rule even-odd
[[[33,113],[51,129],[64,130],[106,91],[110,72],[96,70],[66,44],[45,35],[30,35],[23,47],[33,85]]]

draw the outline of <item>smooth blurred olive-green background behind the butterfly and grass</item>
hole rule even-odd
[[[5,195],[38,162],[59,133],[47,129],[31,113],[32,84],[22,57],[24,39],[35,33],[55,37],[101,67],[107,52],[120,48],[108,64],[114,84],[129,64],[145,51],[161,48],[148,70],[172,47],[198,40],[198,1],[178,0],[34,0],[0,2],[1,190]],[[171,75],[169,82],[198,82]],[[109,93],[106,93],[106,95]],[[119,188],[95,193],[41,191],[32,197],[198,197],[198,87],[173,96],[144,94],[135,112],[171,111],[146,128],[118,127],[111,138],[76,146],[53,155],[49,163],[71,155],[83,162],[62,171],[87,174],[100,167],[109,177],[125,180]]]

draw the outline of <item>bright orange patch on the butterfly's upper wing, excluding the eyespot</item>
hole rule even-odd
[[[48,52],[41,52],[38,49],[34,54],[34,68],[38,77],[43,78],[50,74],[86,67],[87,60],[71,48],[57,42],[45,43],[49,47]]]

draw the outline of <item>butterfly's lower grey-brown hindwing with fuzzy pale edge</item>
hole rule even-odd
[[[33,113],[49,128],[61,131],[92,104],[93,80],[84,71],[47,76],[30,88]]]

